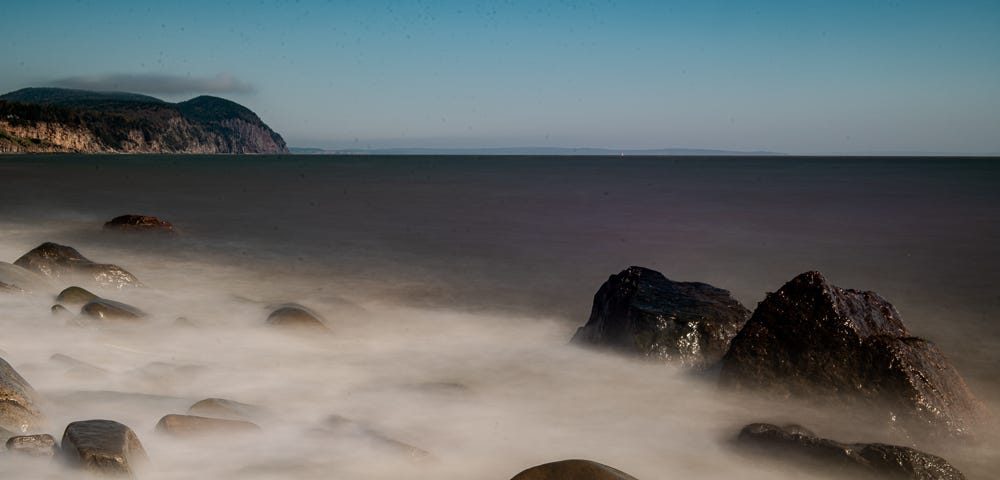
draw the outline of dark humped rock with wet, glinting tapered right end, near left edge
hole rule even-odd
[[[53,279],[80,278],[102,287],[124,288],[142,284],[117,265],[94,263],[72,247],[43,243],[14,262],[32,272]]]

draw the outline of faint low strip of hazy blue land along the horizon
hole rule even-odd
[[[608,148],[566,147],[502,147],[502,148],[381,148],[345,149],[292,147],[299,155],[592,155],[592,156],[656,156],[656,155],[784,155],[778,152],[740,152],[696,148],[659,148],[648,150],[612,150]]]

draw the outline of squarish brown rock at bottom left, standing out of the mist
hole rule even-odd
[[[131,428],[113,420],[83,420],[66,426],[62,454],[86,470],[134,476],[133,469],[149,458]]]

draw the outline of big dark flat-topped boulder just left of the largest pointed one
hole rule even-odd
[[[572,342],[705,368],[722,358],[749,316],[726,290],[629,267],[601,285]]]

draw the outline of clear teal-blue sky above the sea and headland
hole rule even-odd
[[[1000,1],[18,1],[0,91],[209,94],[297,147],[1000,153]]]

